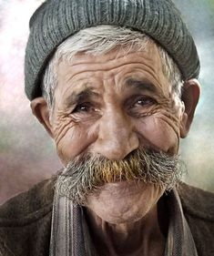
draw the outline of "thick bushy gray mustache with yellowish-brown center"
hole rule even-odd
[[[76,204],[84,205],[87,196],[102,185],[117,181],[141,181],[169,191],[180,180],[184,163],[175,156],[138,148],[125,159],[109,160],[86,154],[81,160],[71,160],[58,175],[56,189]]]

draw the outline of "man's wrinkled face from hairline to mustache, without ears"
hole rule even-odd
[[[152,91],[140,88],[139,82],[150,84]],[[72,101],[84,90],[87,98],[79,103],[87,108],[76,111]],[[139,145],[171,154],[178,151],[183,110],[171,97],[155,46],[142,54],[76,56],[69,67],[62,62],[55,101],[54,138],[65,163],[86,151],[123,159]]]

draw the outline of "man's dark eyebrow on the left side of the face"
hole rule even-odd
[[[79,92],[73,92],[72,95],[66,97],[65,105],[66,107],[72,107],[76,103],[82,102],[90,97],[98,96],[98,94],[93,90],[92,87],[87,87]]]

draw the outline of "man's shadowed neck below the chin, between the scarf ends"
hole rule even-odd
[[[162,256],[166,236],[159,226],[161,216],[156,205],[141,220],[111,224],[86,210],[91,240],[97,254],[102,256]]]

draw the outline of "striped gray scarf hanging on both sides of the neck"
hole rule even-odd
[[[198,256],[178,192],[167,196],[170,220],[163,256]],[[56,189],[49,256],[97,256],[90,240],[83,207],[58,194]]]

